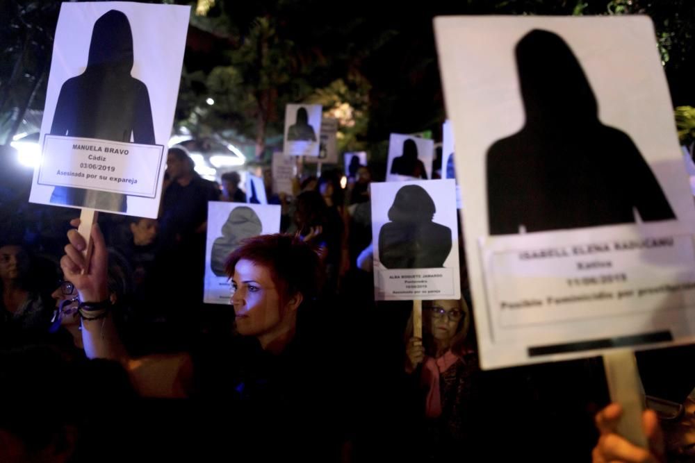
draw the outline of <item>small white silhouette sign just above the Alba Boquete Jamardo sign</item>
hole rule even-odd
[[[386,181],[432,178],[434,141],[392,133],[389,137],[389,161]]]

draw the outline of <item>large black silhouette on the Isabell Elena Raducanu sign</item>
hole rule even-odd
[[[676,219],[630,137],[598,119],[577,58],[558,35],[516,45],[525,125],[487,152],[490,235]]]

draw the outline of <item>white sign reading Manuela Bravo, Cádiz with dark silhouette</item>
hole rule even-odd
[[[29,201],[157,217],[189,11],[63,3]]]

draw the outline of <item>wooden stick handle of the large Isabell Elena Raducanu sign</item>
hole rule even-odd
[[[618,433],[636,446],[649,448],[642,428],[644,394],[635,354],[630,349],[610,351],[603,355],[603,367],[612,402],[623,407]]]

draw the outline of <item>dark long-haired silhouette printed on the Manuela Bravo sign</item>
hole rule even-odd
[[[92,30],[87,68],[63,83],[51,135],[156,144],[145,83],[131,76],[133,34],[124,13],[111,10]],[[126,211],[124,194],[56,187],[51,203]]]

